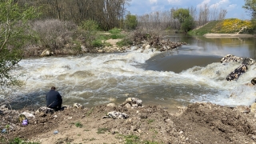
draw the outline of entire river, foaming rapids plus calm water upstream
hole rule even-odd
[[[87,107],[118,105],[128,97],[169,110],[190,102],[249,106],[255,101],[256,89],[245,84],[256,76],[256,66],[238,81],[227,82],[226,76],[240,64],[220,62],[226,54],[255,58],[255,38],[166,38],[187,45],[162,53],[132,47],[126,53],[23,59],[13,73],[21,74],[25,85],[12,90],[10,95],[18,98],[12,105],[45,106],[51,86],[56,86],[63,104]]]

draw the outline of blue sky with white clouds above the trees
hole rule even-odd
[[[227,10],[226,18],[250,19],[250,14],[242,8],[245,4],[244,0],[131,0],[127,10],[131,14],[142,15],[150,14],[154,11],[170,10],[172,7],[176,9],[193,6],[200,10],[200,6],[205,4],[210,9],[217,7]]]

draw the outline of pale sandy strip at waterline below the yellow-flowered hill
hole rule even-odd
[[[206,38],[255,38],[255,34],[204,34]]]

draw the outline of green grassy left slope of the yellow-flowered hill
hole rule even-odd
[[[204,34],[209,34],[211,33],[211,30],[218,24],[219,21],[212,21],[208,22],[205,26],[202,26],[198,30],[190,30],[188,34],[190,35],[199,35],[202,36]]]

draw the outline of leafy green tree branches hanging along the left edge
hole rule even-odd
[[[22,60],[22,47],[32,38],[28,21],[38,16],[33,7],[20,7],[13,0],[0,2],[0,86],[18,85],[10,73]]]

